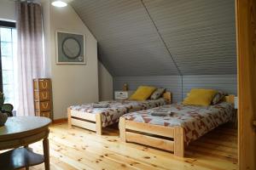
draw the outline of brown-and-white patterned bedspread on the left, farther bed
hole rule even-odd
[[[102,127],[107,127],[115,122],[119,122],[119,117],[123,116],[125,113],[132,111],[143,111],[150,108],[158,107],[160,105],[165,105],[165,99],[155,99],[155,100],[113,100],[113,101],[102,101],[99,104],[108,103],[108,108],[93,108],[92,104],[84,105],[72,105],[70,106],[71,111],[79,111],[86,113],[102,114]],[[72,114],[72,113],[71,113]]]

